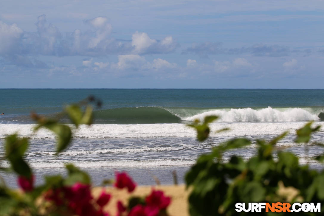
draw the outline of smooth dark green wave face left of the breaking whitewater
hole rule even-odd
[[[180,123],[181,119],[159,107],[114,108],[94,112],[96,124]]]

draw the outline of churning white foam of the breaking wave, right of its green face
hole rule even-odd
[[[220,116],[218,121],[309,121],[320,120],[316,114],[302,108],[287,108],[284,111],[274,109],[271,107],[255,110],[252,108],[239,108],[239,109],[216,109],[212,111],[203,112],[184,120],[193,121],[200,119],[201,121],[205,116],[216,115]]]

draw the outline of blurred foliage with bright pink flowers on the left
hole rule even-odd
[[[67,117],[75,128],[80,124],[92,123],[92,106],[94,102],[101,105],[99,100],[89,97],[78,104],[67,106],[63,112],[54,118],[31,114],[37,123],[34,131],[46,128],[57,137],[56,153],[64,151],[72,140],[70,126],[62,124],[62,118]],[[104,207],[109,203],[111,195],[105,189],[99,197],[91,194],[91,179],[88,174],[72,164],[66,164],[67,177],[60,175],[45,176],[43,185],[34,186],[35,176],[28,163],[25,161],[25,152],[28,149],[28,139],[20,138],[17,134],[8,135],[5,139],[5,155],[2,160],[8,160],[10,167],[0,167],[4,171],[13,171],[17,174],[17,182],[22,191],[8,188],[5,182],[0,185],[0,215],[53,215],[53,216],[109,216],[109,211]],[[104,180],[104,184],[111,184],[110,179]],[[114,187],[126,188],[132,193],[136,188],[127,173],[116,172]],[[152,190],[146,197],[131,197],[124,205],[118,201],[115,209],[118,216],[167,216],[167,207],[171,199],[166,197],[163,191]]]

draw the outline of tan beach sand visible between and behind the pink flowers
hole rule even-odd
[[[185,185],[160,185],[160,186],[137,186],[136,189],[130,194],[126,189],[118,189],[114,187],[107,187],[105,190],[111,194],[109,204],[105,207],[111,215],[117,213],[117,201],[120,200],[123,204],[127,203],[130,196],[145,197],[150,194],[152,188],[156,190],[163,190],[166,196],[171,197],[171,204],[168,207],[168,214],[171,216],[187,216],[188,212],[188,195],[189,190],[186,190]],[[102,187],[92,189],[93,196],[97,198],[102,191]]]

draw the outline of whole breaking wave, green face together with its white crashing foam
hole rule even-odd
[[[95,124],[156,124],[181,123],[217,115],[221,122],[298,122],[324,121],[323,107],[306,108],[193,108],[193,107],[132,107],[96,110]],[[68,122],[68,120],[64,120]],[[0,124],[32,124],[27,115],[1,116]]]

